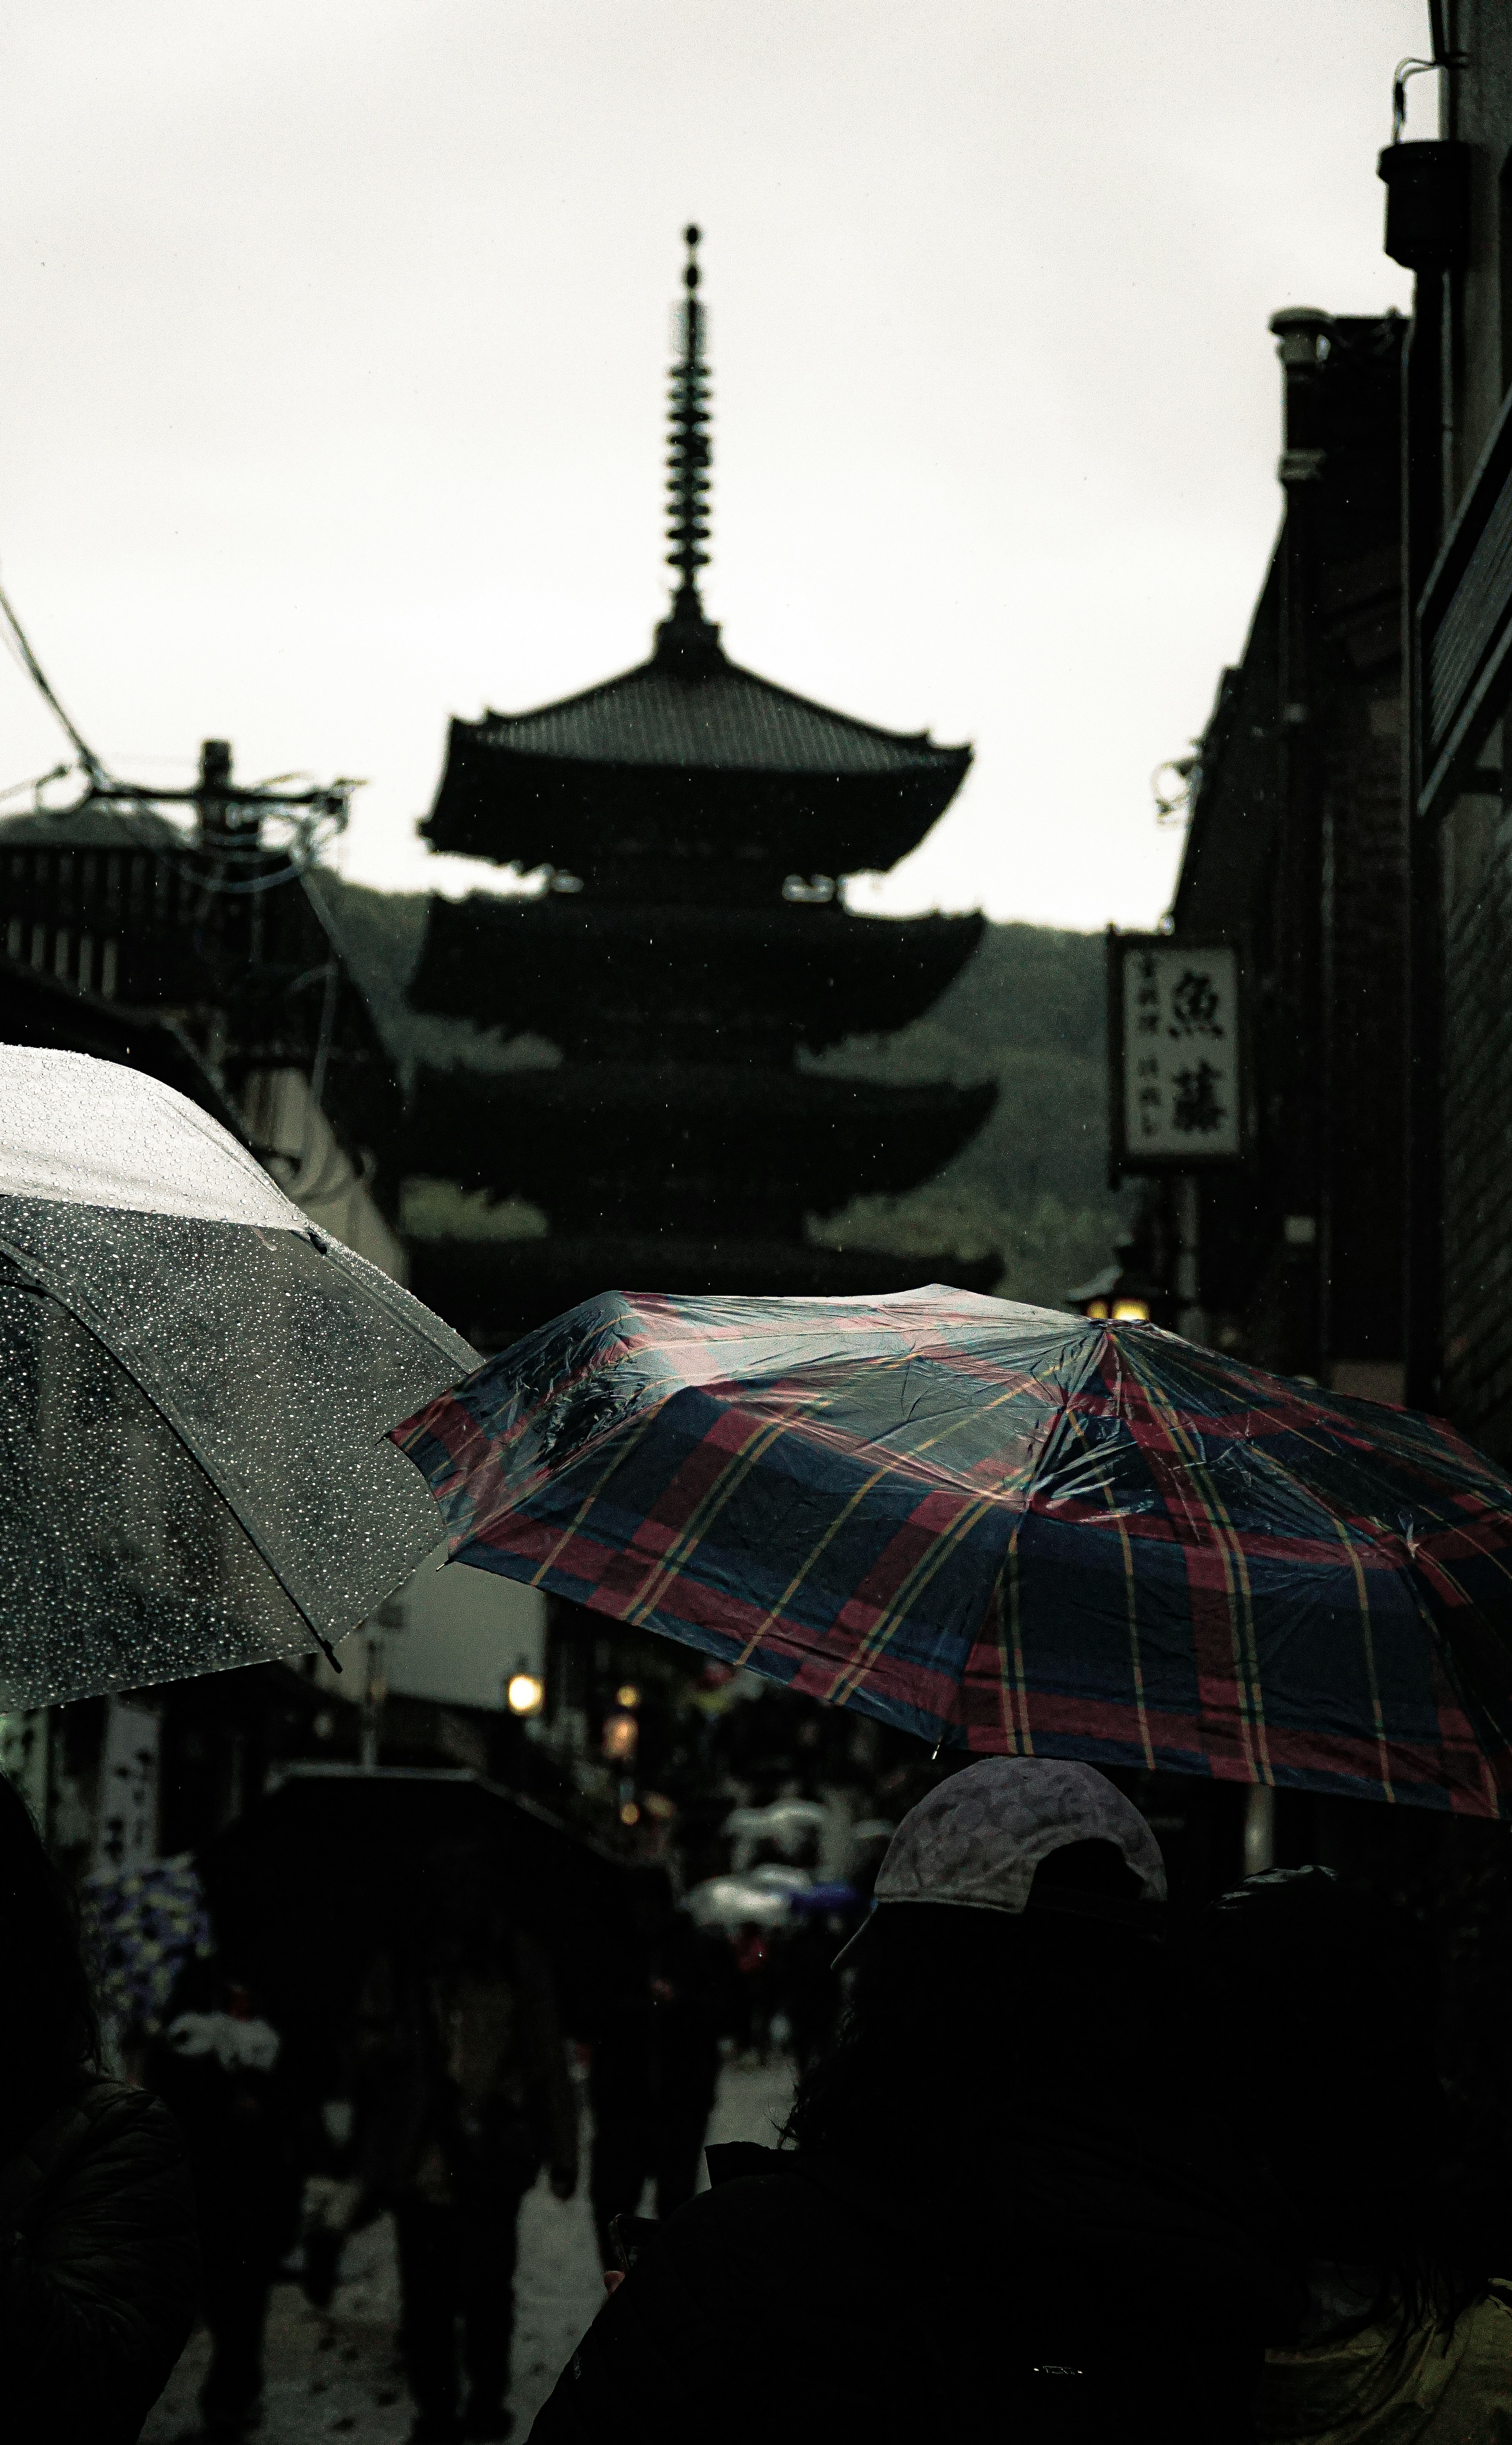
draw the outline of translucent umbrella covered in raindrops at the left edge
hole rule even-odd
[[[188,1098],[0,1044],[0,1707],[342,1638],[437,1543],[383,1428],[474,1367]]]

